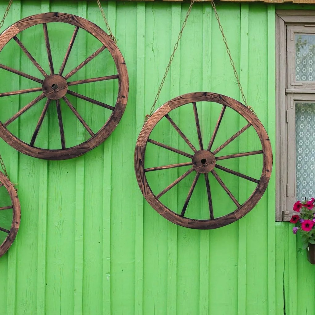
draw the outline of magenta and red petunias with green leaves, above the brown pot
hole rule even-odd
[[[292,231],[294,234],[300,231],[303,248],[306,249],[308,243],[315,244],[315,199],[299,200],[293,205],[293,210],[298,214],[291,217],[290,222],[295,224]]]

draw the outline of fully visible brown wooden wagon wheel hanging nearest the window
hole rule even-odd
[[[219,119],[216,123],[215,129],[213,131],[211,140],[207,148],[203,147],[197,106],[196,106],[196,102],[200,102],[200,101],[216,102],[223,105],[221,113],[219,115]],[[192,145],[192,143],[186,138],[186,136],[182,133],[179,127],[174,123],[174,121],[168,115],[170,111],[185,104],[189,104],[189,106],[192,106],[194,110],[200,150],[197,150]],[[227,106],[232,108],[234,111],[238,112],[241,116],[243,116],[248,121],[248,124],[246,124],[242,129],[240,129],[235,135],[233,135],[230,139],[224,142],[221,146],[213,150],[212,145],[215,140],[215,136],[217,134],[217,131],[219,129],[222,117],[224,115],[224,112]],[[185,140],[187,145],[193,151],[193,154],[180,151],[174,147],[167,146],[163,143],[157,142],[149,138],[153,128],[164,116],[169,120],[171,125],[176,129],[178,134]],[[257,135],[259,136],[259,139],[261,141],[261,146],[262,146],[261,150],[245,152],[245,153],[236,153],[236,154],[231,154],[231,155],[221,156],[221,157],[217,155],[218,152],[220,152],[225,146],[227,146],[230,142],[232,142],[239,135],[241,135],[250,126],[254,127]],[[187,162],[187,163],[178,163],[178,164],[157,166],[157,167],[145,169],[144,168],[145,151],[146,151],[146,145],[148,142],[154,145],[163,147],[165,149],[168,149],[170,151],[176,152],[178,154],[184,155],[186,157],[189,157],[192,160],[191,162]],[[263,155],[263,166],[262,166],[261,177],[259,180],[249,177],[247,175],[241,174],[239,172],[233,171],[231,169],[227,169],[217,163],[219,162],[219,160],[223,160],[223,159],[243,157],[243,156],[249,156],[249,155],[255,155],[255,154]],[[153,194],[148,184],[148,181],[146,179],[146,172],[158,171],[161,169],[176,168],[176,167],[181,167],[185,165],[191,165],[191,169],[189,169],[186,173],[184,173],[178,179],[176,179],[172,184],[170,184],[165,189],[163,189],[159,194],[157,195]],[[226,187],[226,185],[223,183],[219,175],[216,173],[215,168],[221,169],[233,175],[236,175],[246,180],[257,183],[257,186],[254,192],[243,204],[240,204],[238,200],[229,191],[229,189]],[[143,126],[140,132],[139,138],[137,140],[136,148],[135,148],[135,173],[136,173],[136,177],[137,177],[141,192],[143,196],[146,198],[146,200],[148,201],[148,203],[150,203],[150,205],[160,215],[163,215],[163,217],[166,218],[167,220],[181,226],[195,228],[195,229],[214,229],[217,227],[225,226],[234,221],[237,221],[238,219],[246,215],[251,209],[253,209],[253,207],[257,204],[257,202],[260,200],[261,196],[265,192],[269,179],[270,179],[271,170],[272,170],[272,150],[271,150],[270,140],[268,138],[265,128],[263,127],[259,119],[253,114],[253,112],[251,112],[247,107],[245,107],[243,104],[241,104],[237,100],[234,100],[224,95],[215,94],[215,93],[205,93],[205,92],[189,93],[189,94],[178,96],[168,101],[167,103],[165,103],[163,106],[158,108],[152,114],[152,116],[148,119],[146,124]],[[176,211],[170,210],[168,207],[166,207],[163,203],[159,201],[159,198],[161,198],[163,194],[169,191],[172,187],[178,184],[180,180],[182,180],[183,178],[185,178],[187,175],[189,175],[192,172],[196,172],[195,178],[188,192],[188,196],[185,200],[184,206],[182,209],[178,211],[178,213]],[[223,187],[223,189],[226,191],[228,196],[232,199],[232,201],[236,205],[236,209],[233,209],[233,211],[229,213],[228,215],[224,215],[218,218],[214,217],[215,211],[212,207],[211,191],[210,191],[209,177],[208,177],[209,172],[212,173],[212,175],[215,177],[217,182]],[[185,211],[186,211],[187,205],[192,196],[192,192],[195,188],[197,180],[201,174],[204,174],[205,185],[206,185],[206,190],[207,190],[207,195],[208,195],[209,210],[207,211],[209,211],[209,217],[210,217],[209,220],[195,220],[195,219],[185,217]]]

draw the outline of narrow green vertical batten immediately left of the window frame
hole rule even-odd
[[[267,7],[267,42],[268,42],[268,135],[272,150],[275,152],[275,125],[276,125],[276,109],[275,109],[275,7],[268,5]],[[275,156],[275,155],[274,155]],[[275,163],[273,164],[275,167]],[[268,185],[268,209],[275,208],[275,169]],[[268,312],[274,314],[276,312],[276,266],[275,266],[275,213],[268,211]]]

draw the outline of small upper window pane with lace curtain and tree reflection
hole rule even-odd
[[[315,81],[315,34],[295,34],[295,80]]]

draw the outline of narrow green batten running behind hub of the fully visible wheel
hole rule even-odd
[[[212,7],[203,4],[202,13],[202,90],[211,92],[212,47],[208,38],[212,37]],[[206,123],[205,118],[208,118],[207,114],[209,111],[206,111],[206,109],[208,109],[208,106],[202,107],[203,123]],[[204,203],[203,208],[204,211],[207,209],[207,205]],[[209,273],[210,234],[211,231],[201,231],[200,233],[199,314],[209,314],[209,282],[211,281]]]

